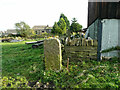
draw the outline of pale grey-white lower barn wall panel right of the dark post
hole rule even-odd
[[[119,45],[119,19],[103,19],[101,50],[106,50]],[[118,56],[118,51],[102,53],[101,56]]]

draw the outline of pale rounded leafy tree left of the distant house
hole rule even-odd
[[[29,35],[34,34],[34,31],[25,22],[16,23],[15,26],[18,34],[22,37],[29,37]]]

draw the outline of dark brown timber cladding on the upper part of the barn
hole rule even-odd
[[[88,2],[88,26],[97,18],[120,19],[120,2]]]

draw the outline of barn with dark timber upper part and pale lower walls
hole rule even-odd
[[[96,0],[97,1],[97,0]],[[88,36],[98,40],[98,59],[120,57],[120,2],[88,2]],[[102,51],[104,52],[101,53]]]

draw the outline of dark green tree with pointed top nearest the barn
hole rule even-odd
[[[81,29],[82,29],[82,25],[80,25],[79,23],[77,23],[76,18],[73,18],[72,24],[70,26],[70,31],[71,32],[78,32],[78,31],[81,31]]]

